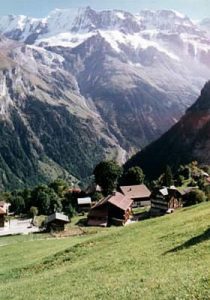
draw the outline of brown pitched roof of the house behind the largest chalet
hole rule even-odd
[[[151,196],[151,192],[145,184],[121,186],[120,189],[125,196],[131,199],[149,198]]]

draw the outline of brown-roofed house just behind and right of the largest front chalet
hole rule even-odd
[[[133,207],[151,205],[151,192],[145,184],[121,186],[121,192],[133,200]]]

